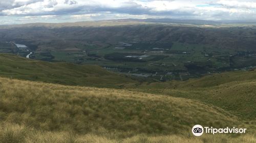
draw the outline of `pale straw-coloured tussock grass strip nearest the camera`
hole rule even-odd
[[[200,137],[195,136],[180,136],[180,135],[146,135],[139,134],[131,137],[116,138],[111,137],[108,134],[96,135],[90,134],[80,134],[75,135],[70,132],[51,132],[51,131],[38,131],[33,128],[25,127],[24,125],[10,124],[10,123],[0,123],[0,142],[1,143],[15,143],[15,142],[26,142],[26,143],[82,143],[82,142],[92,142],[92,143],[254,143],[256,141],[256,136],[252,134],[247,134],[243,136],[232,137],[230,135],[216,134],[216,135],[202,135]]]

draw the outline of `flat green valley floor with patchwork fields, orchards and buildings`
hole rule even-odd
[[[6,53],[14,53],[12,44],[2,42]],[[121,47],[121,49],[117,48]],[[118,42],[116,44],[75,43],[66,50],[32,51],[32,59],[75,64],[95,64],[126,75],[147,75],[158,81],[185,81],[205,74],[226,70],[251,69],[256,64],[254,51],[227,49],[207,44],[182,42],[140,43]],[[45,49],[45,46],[44,46]],[[1,50],[1,49],[0,49]],[[29,52],[17,50],[25,57]],[[252,67],[251,67],[252,66]],[[160,74],[161,73],[161,74]],[[171,74],[170,74],[171,73]],[[187,73],[184,75],[184,73]]]

